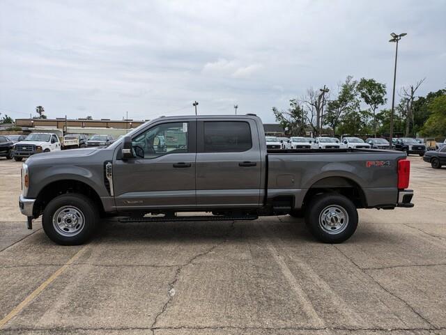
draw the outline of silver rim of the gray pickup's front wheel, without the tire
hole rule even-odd
[[[74,206],[63,206],[53,215],[53,227],[62,236],[79,234],[85,226],[84,214]]]

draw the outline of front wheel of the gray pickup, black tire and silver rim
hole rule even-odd
[[[66,212],[65,215],[68,215],[68,219],[65,221],[61,219],[64,212]],[[69,215],[75,217],[76,221],[68,221],[70,219]],[[68,221],[69,224],[79,224],[79,227],[73,226],[73,231],[70,232],[70,228],[61,228],[56,224],[57,221],[62,223]],[[49,201],[43,211],[42,226],[53,242],[61,245],[79,245],[90,239],[98,221],[98,208],[90,198],[82,194],[62,194]],[[63,231],[64,229],[66,231]]]

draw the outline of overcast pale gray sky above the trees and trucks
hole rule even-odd
[[[0,0],[0,112],[256,113],[347,75],[446,86],[446,1]],[[390,94],[388,95],[390,98]]]

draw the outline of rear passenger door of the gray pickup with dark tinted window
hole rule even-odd
[[[198,123],[197,206],[259,206],[261,155],[256,123],[254,120],[232,123],[245,125],[236,125],[234,129],[231,122],[215,119]],[[246,130],[250,133],[243,135]]]

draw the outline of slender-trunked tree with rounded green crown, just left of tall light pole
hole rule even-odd
[[[378,124],[376,122],[376,109],[387,102],[385,98],[385,84],[380,84],[375,79],[361,78],[357,84],[357,91],[364,102],[369,106],[371,114],[373,114],[373,129],[376,137]]]

